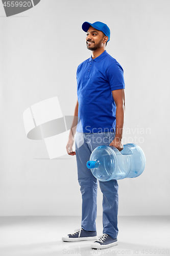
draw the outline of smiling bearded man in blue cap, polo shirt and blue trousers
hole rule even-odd
[[[123,69],[105,50],[110,29],[101,22],[85,22],[87,49],[92,52],[77,69],[78,100],[66,150],[76,155],[78,180],[82,193],[81,229],[62,238],[63,241],[95,240],[96,195],[98,181],[86,163],[99,145],[123,150],[122,136],[125,113],[125,83]],[[79,118],[79,122],[78,122]],[[77,133],[76,133],[77,125]],[[76,152],[72,152],[76,133]],[[117,245],[118,184],[116,180],[99,181],[103,193],[103,236],[92,248]]]

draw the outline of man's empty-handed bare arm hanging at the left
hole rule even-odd
[[[76,155],[76,152],[72,151],[72,145],[74,144],[74,137],[76,134],[76,128],[77,128],[77,123],[78,123],[78,109],[79,109],[79,102],[77,100],[75,112],[74,112],[74,119],[72,121],[71,129],[70,129],[69,137],[68,137],[68,142],[66,145],[66,151],[67,151],[68,155],[71,155],[71,156]]]

